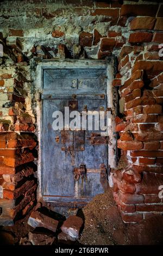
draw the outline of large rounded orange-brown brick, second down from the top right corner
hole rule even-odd
[[[130,22],[130,29],[153,29],[155,18],[154,17],[135,17]]]

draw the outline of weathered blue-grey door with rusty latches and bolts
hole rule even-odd
[[[53,112],[106,111],[106,70],[44,69],[42,102],[43,199],[87,203],[108,185],[108,137],[95,130],[95,117],[92,130],[54,131]]]

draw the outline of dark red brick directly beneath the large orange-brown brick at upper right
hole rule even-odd
[[[135,44],[136,42],[151,42],[152,33],[149,32],[135,32],[130,34],[129,42]]]

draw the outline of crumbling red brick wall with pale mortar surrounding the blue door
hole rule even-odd
[[[125,222],[161,214],[163,62],[159,44],[163,44],[163,4],[12,2],[12,8],[9,1],[2,2],[0,10],[0,39],[5,50],[0,59],[2,215],[4,211],[14,218],[20,210],[32,207],[35,197],[32,162],[37,117],[30,76],[34,60],[108,56],[117,58],[112,86],[119,97],[115,121],[121,156],[117,170],[111,170],[114,198]]]

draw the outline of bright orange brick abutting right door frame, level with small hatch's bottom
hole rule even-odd
[[[143,148],[143,144],[142,144],[142,142],[120,141],[120,139],[118,139],[117,147],[121,148],[123,150],[135,150],[135,149],[142,149]]]

